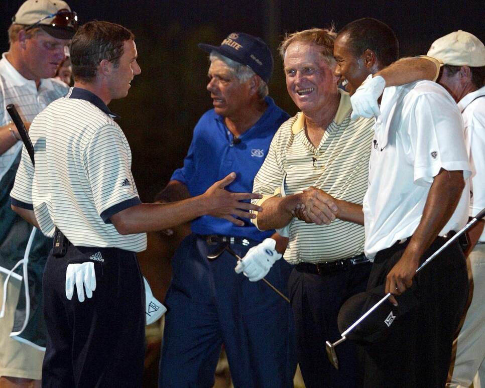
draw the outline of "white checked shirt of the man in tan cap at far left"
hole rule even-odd
[[[0,126],[11,120],[6,106],[14,104],[24,122],[32,122],[37,113],[53,100],[66,95],[68,88],[55,79],[42,79],[37,89],[35,81],[25,79],[7,60],[5,53],[0,60]],[[17,142],[0,155],[0,179],[9,170],[22,142]]]

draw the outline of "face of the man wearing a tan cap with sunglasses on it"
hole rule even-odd
[[[21,45],[24,47],[22,75],[36,81],[54,77],[65,58],[64,47],[69,41],[53,38],[44,31],[38,31],[31,38],[21,39]]]

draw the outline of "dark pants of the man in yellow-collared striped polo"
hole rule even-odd
[[[360,388],[363,371],[351,341],[338,346],[339,369],[328,360],[325,341],[340,338],[337,316],[343,303],[366,290],[371,263],[316,275],[294,269],[288,283],[295,318],[298,362],[307,388]]]

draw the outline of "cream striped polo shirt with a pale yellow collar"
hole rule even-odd
[[[335,118],[316,149],[306,137],[302,112],[283,123],[255,178],[253,191],[265,196],[256,202],[315,186],[335,198],[361,204],[367,190],[374,119],[350,120],[350,112],[350,98],[341,91]],[[363,252],[364,229],[355,223],[337,219],[330,225],[316,225],[293,218],[288,233],[284,257],[291,264],[328,262]]]

